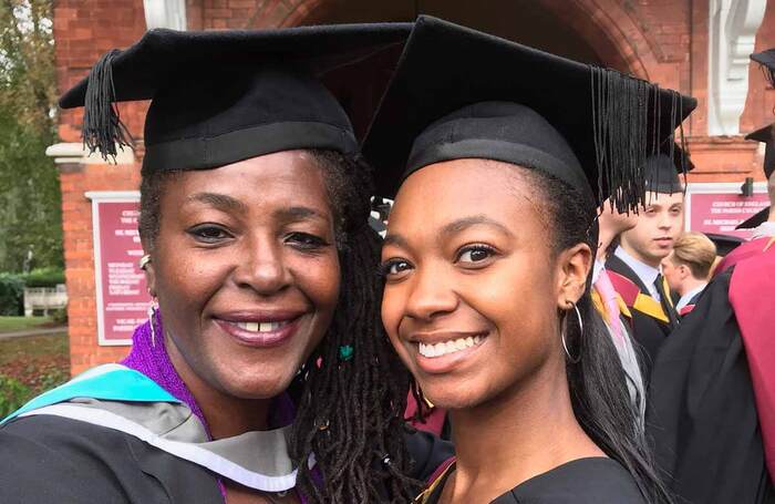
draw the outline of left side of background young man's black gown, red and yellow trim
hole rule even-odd
[[[623,260],[617,256],[609,257],[606,270],[630,311],[632,336],[645,353],[641,371],[648,379],[657,352],[675,326],[660,301],[649,295],[647,286]]]

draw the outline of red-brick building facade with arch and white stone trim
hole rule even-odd
[[[743,136],[775,121],[775,91],[748,61],[751,52],[775,47],[775,0],[59,0],[58,84],[60,91],[74,85],[102,53],[131,45],[148,27],[409,21],[418,12],[690,94],[699,106],[684,125],[695,165],[689,182],[740,186],[746,177],[763,181],[763,151]],[[97,336],[99,326],[107,323],[100,315],[105,300],[99,282],[113,272],[95,267],[106,254],[95,250],[95,195],[135,197],[147,103],[118,109],[136,150],[122,152],[117,164],[85,155],[81,110],[61,112],[61,143],[49,150],[61,174],[73,373],[127,351],[123,341],[114,344]]]

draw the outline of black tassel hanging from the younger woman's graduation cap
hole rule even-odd
[[[663,113],[670,113],[670,124],[676,123],[681,94],[670,92],[670,111],[662,111],[657,84],[599,66],[590,66],[590,73],[598,197],[610,199],[618,212],[637,212],[647,203],[645,160],[661,145],[673,145],[672,131],[660,143],[660,127]],[[682,166],[685,174],[683,160]]]

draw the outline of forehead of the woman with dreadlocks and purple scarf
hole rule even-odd
[[[192,195],[230,196],[248,207],[304,205],[328,210],[322,171],[303,151],[252,157],[214,169],[182,172],[165,188],[165,198],[183,204]]]

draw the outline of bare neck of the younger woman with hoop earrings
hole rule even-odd
[[[457,462],[450,502],[489,502],[571,460],[603,456],[574,415],[565,362],[550,368],[451,412]]]

